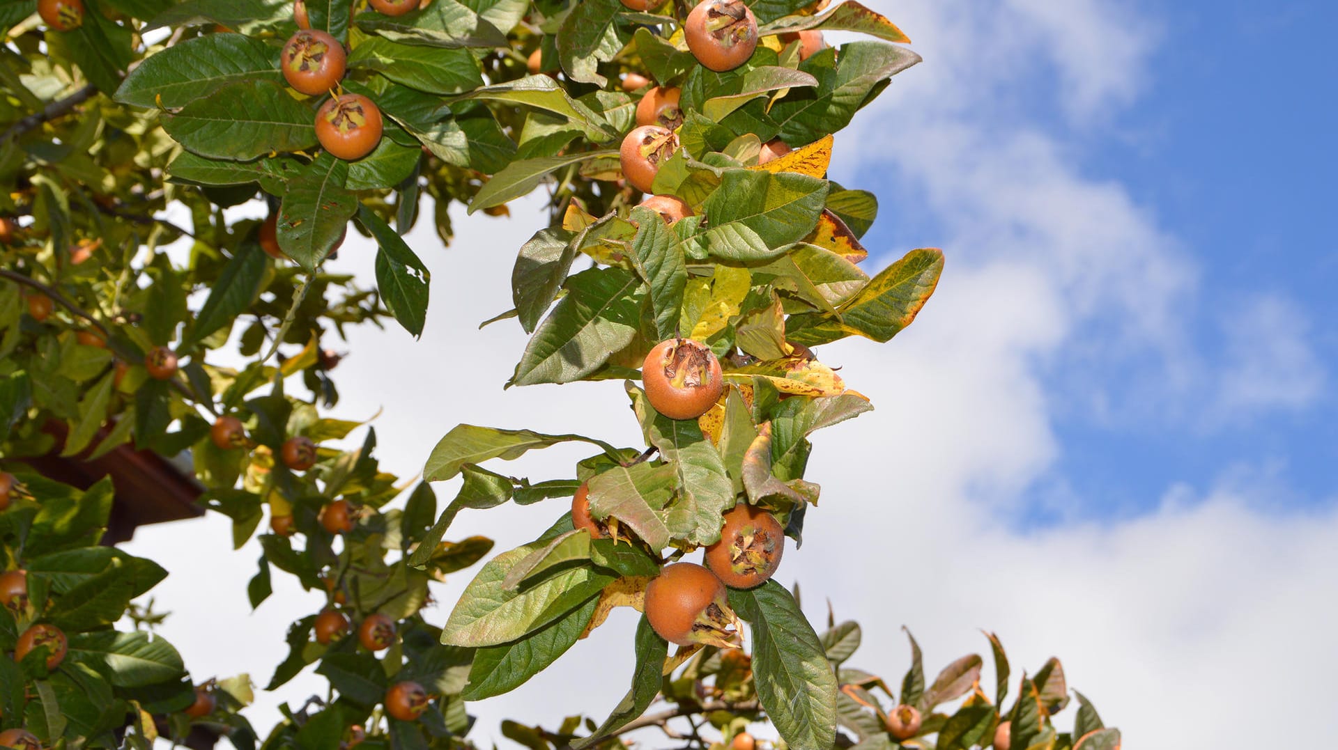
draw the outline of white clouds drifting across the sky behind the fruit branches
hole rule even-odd
[[[1232,321],[1232,366],[1215,373],[1183,324],[1202,314],[1193,259],[1127,189],[1084,174],[1081,151],[1046,130],[1058,126],[1028,111],[1040,96],[1085,127],[1128,103],[1144,86],[1155,24],[1096,0],[915,0],[882,9],[926,63],[839,139],[834,176],[858,187],[860,178],[892,175],[891,190],[879,190],[884,217],[931,217],[943,227],[933,243],[947,249],[947,271],[919,321],[890,346],[820,349],[878,410],[819,436],[809,477],[823,485],[822,505],[780,578],[799,578],[814,622],[826,618],[824,599],[862,620],[858,662],[884,676],[906,667],[903,623],[929,668],[987,652],[974,630],[986,627],[1009,646],[1017,672],[1061,656],[1070,683],[1125,730],[1131,747],[1310,741],[1318,722],[1247,710],[1227,725],[1223,706],[1242,705],[1242,684],[1267,684],[1286,691],[1290,715],[1326,715],[1322,695],[1338,668],[1319,631],[1338,615],[1329,595],[1338,584],[1331,503],[1313,515],[1279,513],[1267,483],[1226,483],[1168,488],[1155,512],[1105,524],[1020,531],[1010,520],[1062,456],[1056,413],[1073,406],[1061,406],[1056,389],[1085,396],[1076,401],[1093,409],[1115,404],[1109,418],[1161,418],[1176,394],[1207,393],[1199,405],[1220,393],[1242,408],[1295,408],[1323,386],[1297,322],[1303,316],[1276,298]],[[1053,91],[1056,102],[1046,99]],[[860,174],[872,154],[884,160]],[[411,241],[435,274],[424,338],[393,326],[356,332],[340,365],[340,414],[384,408],[379,455],[401,475],[419,471],[456,422],[637,440],[617,384],[500,390],[524,337],[514,321],[475,326],[508,306],[515,250],[543,222],[533,202],[512,209],[512,221],[456,215],[460,237],[448,250],[420,226]],[[339,267],[371,278],[372,253],[351,237]],[[1124,369],[1148,352],[1159,357],[1155,374]],[[1057,384],[1048,374],[1056,362],[1076,362],[1090,380]],[[1125,400],[1103,390],[1124,378],[1145,381],[1139,388],[1155,396],[1133,417]],[[553,448],[507,471],[570,476],[583,453]],[[454,487],[438,491],[444,500]],[[464,513],[448,537],[487,533],[504,549],[545,528],[559,505]],[[229,555],[225,527],[211,519],[145,528],[134,549],[173,571],[158,596],[175,611],[165,634],[187,663],[201,675],[252,670],[264,682],[282,656],[288,622],[320,599],[281,591],[253,618],[221,626],[217,612],[245,607],[257,555]],[[436,591],[443,604],[432,622],[444,622],[468,576]],[[633,622],[617,615],[531,684],[471,706],[478,738],[499,738],[502,718],[550,726],[573,713],[602,718],[626,690]],[[300,705],[317,686],[300,678],[262,697],[253,718],[266,727],[274,701]]]

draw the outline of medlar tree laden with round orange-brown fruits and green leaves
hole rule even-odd
[[[871,409],[816,348],[888,341],[943,265],[921,249],[860,269],[876,201],[827,179],[832,134],[919,57],[883,16],[823,4],[0,1],[0,746],[207,730],[244,749],[467,747],[468,701],[630,606],[637,666],[611,715],[504,735],[619,747],[660,727],[751,750],[747,726],[768,721],[796,749],[1117,747],[1077,694],[1058,731],[1058,660],[1005,709],[993,635],[993,697],[977,655],[926,687],[911,639],[894,687],[847,664],[858,624],[818,634],[773,579],[819,496],[812,434]],[[875,40],[831,47],[824,29]],[[550,226],[491,321],[531,334],[508,385],[621,380],[644,445],[460,425],[424,471],[463,477],[439,512],[429,484],[379,468],[371,429],[356,451],[328,445],[363,426],[321,413],[339,398],[330,337],[385,318],[421,333],[431,279],[403,235],[424,198],[448,242],[452,202],[504,215],[539,186]],[[226,218],[250,201],[266,219]],[[375,289],[324,265],[351,226],[377,246]],[[189,253],[167,250],[182,239]],[[218,364],[233,346],[246,366]],[[482,465],[569,441],[593,447],[569,477]],[[328,598],[289,628],[268,689],[316,664],[332,701],[258,733],[248,675],[193,679],[150,638],[161,615],[138,598],[166,574],[99,544],[111,483],[27,468],[124,445],[187,457],[237,547],[268,516],[252,604],[276,571]],[[551,527],[427,622],[428,580],[492,547],[443,541],[459,509],[508,501]],[[657,699],[669,707],[648,714]]]

